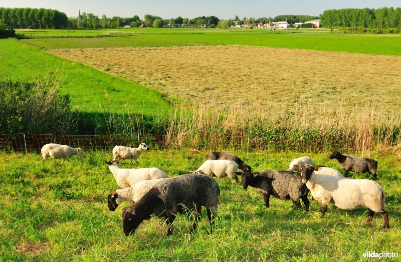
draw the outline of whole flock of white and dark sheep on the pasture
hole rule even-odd
[[[309,210],[308,193],[320,203],[324,215],[329,203],[341,209],[355,209],[360,206],[368,208],[367,222],[373,219],[376,212],[383,217],[383,227],[388,228],[388,213],[385,211],[385,192],[376,182],[368,179],[344,178],[336,169],[324,166],[313,166],[310,157],[300,157],[291,161],[289,169],[283,171],[262,170],[252,173],[251,167],[238,156],[225,152],[210,152],[206,161],[190,174],[167,178],[167,174],[159,168],[119,168],[118,164],[124,159],[137,158],[144,150],[149,150],[145,143],[138,148],[115,146],[113,160],[106,161],[114,179],[121,189],[108,195],[108,207],[114,211],[124,201],[133,202],[124,208],[123,230],[126,235],[133,234],[139,224],[149,219],[150,215],[164,217],[167,223],[167,234],[176,213],[191,210],[194,213],[193,230],[196,229],[202,206],[207,210],[207,218],[213,228],[212,214],[217,209],[220,188],[212,178],[229,176],[234,182],[242,177],[242,186],[256,188],[264,196],[266,207],[269,207],[270,196],[281,200],[292,200],[294,208],[304,203],[305,211]],[[41,150],[43,161],[49,158],[65,159],[73,155],[82,155],[80,148],[66,145],[46,144]],[[330,159],[337,159],[345,176],[349,171],[371,173],[377,177],[377,161],[371,158],[345,156],[335,151]],[[63,163],[62,162],[62,163]],[[242,169],[243,172],[237,172]]]

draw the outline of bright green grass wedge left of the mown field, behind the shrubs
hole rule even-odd
[[[149,87],[47,54],[22,41],[2,39],[0,50],[0,77],[32,79],[38,74],[59,70],[65,77],[60,93],[69,94],[72,107],[80,112],[120,113],[130,110],[153,115],[169,108],[162,94]]]

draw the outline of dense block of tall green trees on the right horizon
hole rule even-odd
[[[326,10],[320,24],[325,28],[399,28],[401,8]]]

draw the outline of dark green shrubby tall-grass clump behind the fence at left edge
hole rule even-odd
[[[58,72],[30,81],[0,79],[0,133],[74,133],[78,116],[69,95],[58,94],[62,80]]]

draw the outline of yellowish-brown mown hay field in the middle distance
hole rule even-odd
[[[112,75],[154,87],[169,97],[245,106],[263,118],[302,106],[326,120],[338,111],[401,109],[401,58],[249,46],[49,50]],[[354,119],[352,119],[353,121]]]

